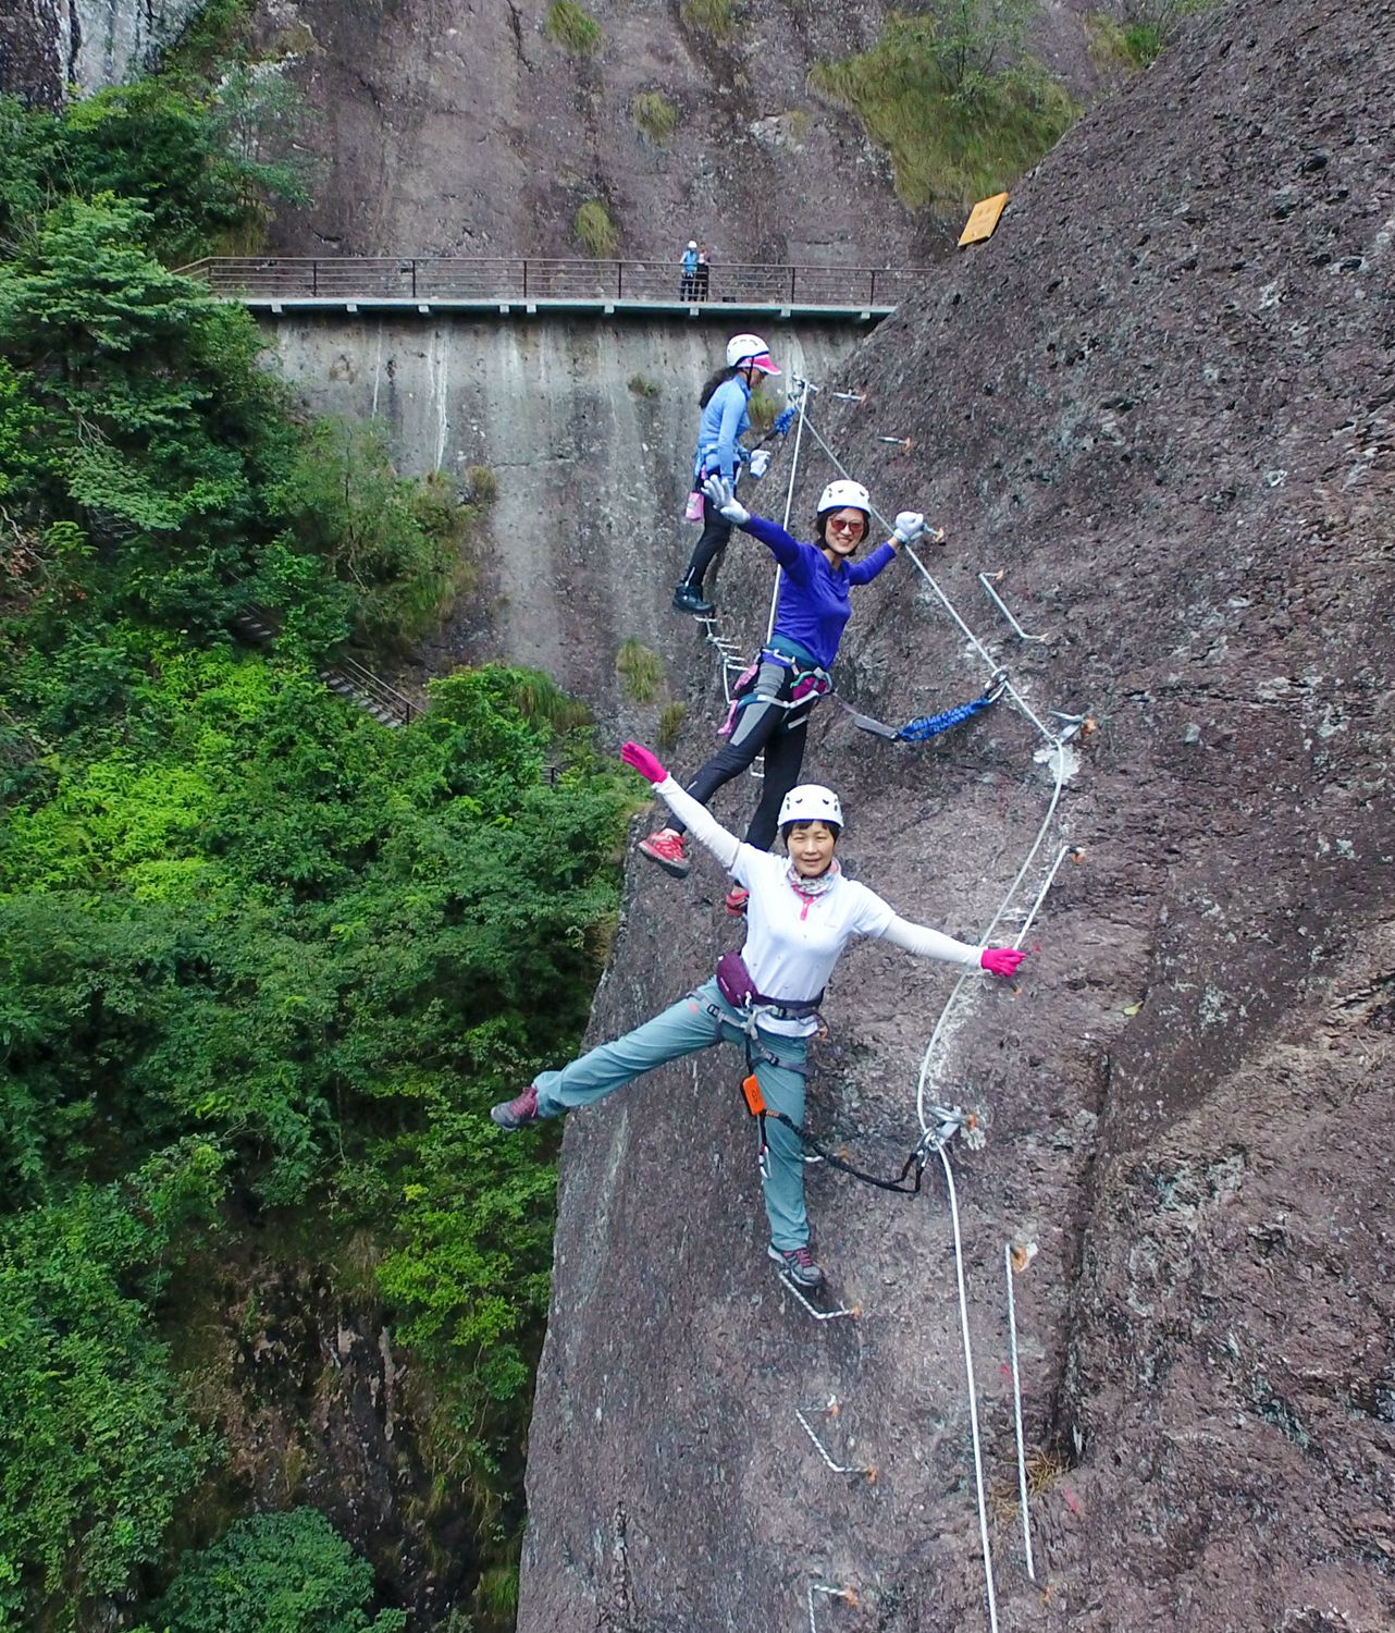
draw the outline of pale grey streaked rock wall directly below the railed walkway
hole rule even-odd
[[[659,652],[677,694],[713,661],[669,596],[698,536],[682,521],[697,395],[729,331],[687,318],[266,320],[272,356],[305,403],[380,420],[403,472],[463,480],[481,464],[498,478],[476,552],[480,590],[427,665],[501,656],[548,670],[617,728],[653,725],[615,673],[622,642]],[[855,333],[795,323],[767,338],[786,380],[817,380],[830,379]],[[783,505],[790,457],[782,444],[752,488],[767,506]]]

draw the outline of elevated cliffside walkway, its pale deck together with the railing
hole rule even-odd
[[[220,299],[271,314],[591,312],[873,323],[922,287],[933,269],[734,265],[708,268],[703,279],[684,278],[666,261],[217,255],[183,271],[202,278]]]

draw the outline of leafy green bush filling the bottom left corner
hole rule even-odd
[[[77,1626],[160,1556],[212,1453],[147,1300],[207,1225],[220,1158],[188,1141],[129,1182],[0,1225],[0,1623]],[[176,1243],[179,1248],[176,1249]],[[11,1622],[10,1617],[15,1617]]]

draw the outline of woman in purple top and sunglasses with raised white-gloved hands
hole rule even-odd
[[[865,562],[853,562],[871,527],[871,498],[860,482],[830,482],[816,511],[816,542],[801,544],[764,516],[752,516],[736,501],[726,477],[703,483],[708,503],[733,526],[752,534],[782,568],[775,627],[755,663],[736,684],[731,714],[721,728],[726,743],[689,784],[687,792],[702,805],[733,777],[741,776],[757,754],[765,754],[760,803],[746,830],[746,843],[768,851],[775,838],[780,803],[799,781],[804,738],[817,701],[832,691],[829,670],[839,655],[844,625],[852,607],[853,585],[871,583],[904,544],[925,532],[925,518],[902,511],[886,544]],[[674,879],[689,870],[684,823],[672,818],[641,841],[640,849]],[[737,885],[726,897],[729,913],[746,906],[746,890]]]

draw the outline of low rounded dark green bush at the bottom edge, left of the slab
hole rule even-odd
[[[372,1592],[372,1566],[325,1515],[289,1509],[238,1520],[186,1555],[152,1620],[165,1633],[400,1633],[403,1610],[369,1620]]]

